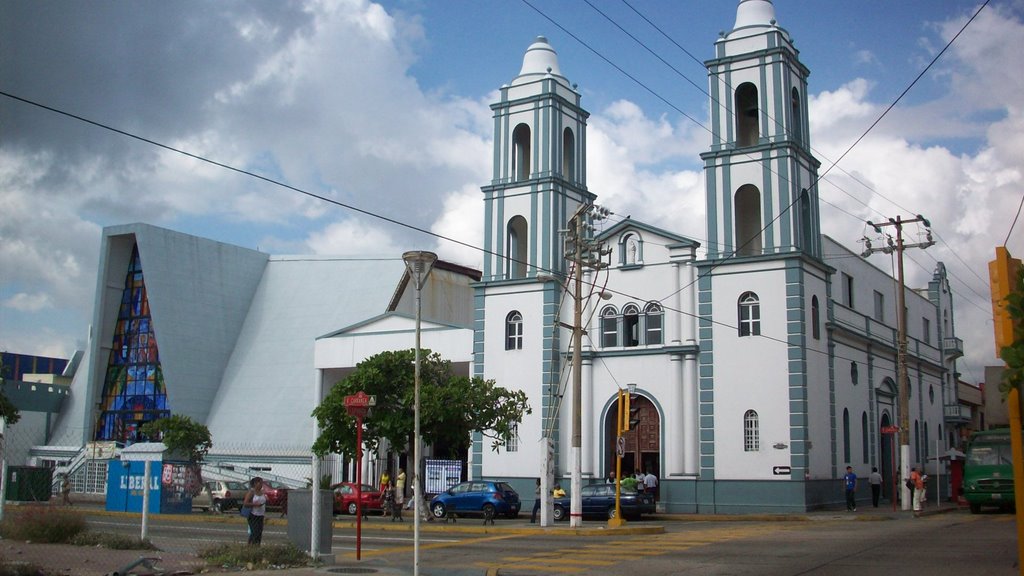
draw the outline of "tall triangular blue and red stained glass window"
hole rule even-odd
[[[170,415],[136,245],[132,248],[125,289],[121,293],[95,438],[125,444],[138,442],[143,440],[139,426]]]

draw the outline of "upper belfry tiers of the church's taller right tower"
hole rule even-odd
[[[712,147],[705,162],[709,258],[821,259],[818,161],[808,137],[807,77],[770,0],[741,0],[705,63]]]

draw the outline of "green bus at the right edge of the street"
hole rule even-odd
[[[964,497],[972,513],[981,506],[1014,506],[1014,462],[1010,429],[978,431],[971,436],[964,463]]]

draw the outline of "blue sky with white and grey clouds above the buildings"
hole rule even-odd
[[[859,252],[865,220],[927,216],[937,244],[907,252],[907,283],[925,286],[945,263],[959,369],[982,380],[997,362],[987,261],[1004,243],[1024,256],[1024,222],[1012,229],[1024,194],[1024,0],[980,12],[953,0],[774,6],[811,70],[822,231]],[[112,224],[273,254],[432,249],[478,266],[466,245],[482,244],[488,105],[537,35],[591,113],[588,184],[601,205],[702,241],[700,63],[735,7],[0,0],[0,349],[68,357],[84,345]]]

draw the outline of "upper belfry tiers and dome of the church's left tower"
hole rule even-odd
[[[587,117],[558,56],[539,36],[495,112],[494,176],[483,187],[483,281],[562,273],[558,232],[587,192]]]

